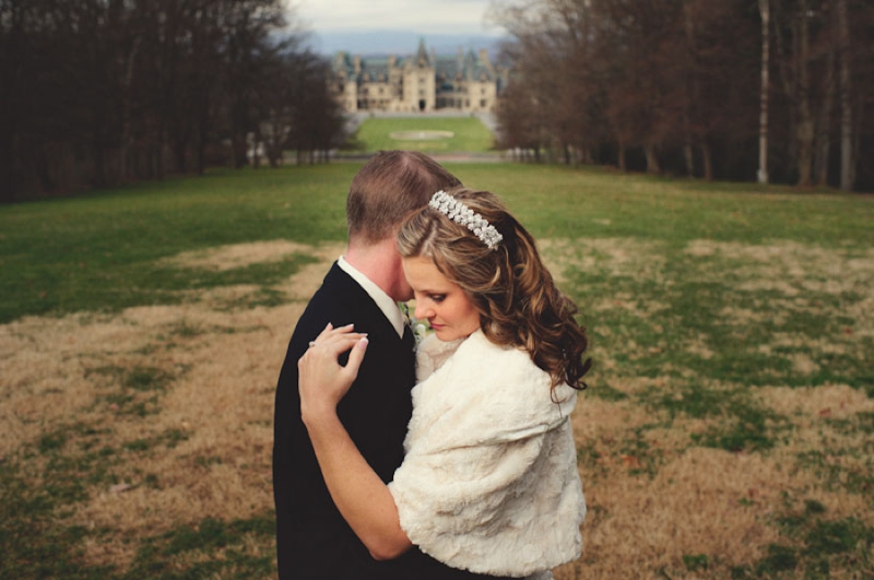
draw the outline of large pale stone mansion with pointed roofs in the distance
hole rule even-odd
[[[332,88],[347,113],[429,113],[451,109],[491,113],[507,71],[492,64],[488,51],[457,56],[428,52],[420,40],[415,56],[368,58],[338,52],[332,63]]]

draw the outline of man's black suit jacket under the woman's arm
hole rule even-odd
[[[400,339],[367,292],[334,263],[297,322],[276,386],[273,496],[280,578],[475,578],[415,548],[395,560],[374,560],[334,506],[300,418],[297,391],[297,360],[328,322],[354,323],[369,340],[358,377],[338,406],[341,422],[383,482],[403,461],[415,384],[412,335],[408,331]]]

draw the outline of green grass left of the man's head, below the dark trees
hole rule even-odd
[[[258,239],[344,239],[342,200],[354,171],[346,164],[215,171],[202,179],[0,208],[0,322],[24,315],[172,304],[182,299],[185,289],[287,277],[309,260],[193,275],[157,261]]]

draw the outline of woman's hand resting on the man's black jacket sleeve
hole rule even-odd
[[[367,350],[367,335],[352,332],[352,324],[338,329],[328,324],[297,362],[297,388],[304,422],[323,413],[334,413],[358,376]],[[341,366],[338,357],[350,348],[349,363]]]

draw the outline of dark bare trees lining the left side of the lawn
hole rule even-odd
[[[282,0],[0,0],[0,201],[338,146],[295,24]]]

